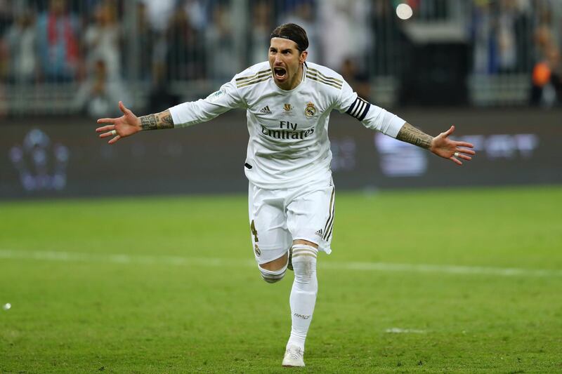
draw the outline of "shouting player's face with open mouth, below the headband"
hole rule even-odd
[[[269,65],[275,84],[283,90],[292,90],[302,79],[302,65],[307,52],[302,53],[296,43],[283,38],[272,38],[269,47]]]

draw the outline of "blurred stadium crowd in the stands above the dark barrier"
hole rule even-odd
[[[265,60],[282,22],[307,30],[310,61],[383,104],[412,72],[448,79],[441,91],[466,81],[471,104],[562,102],[559,0],[0,0],[0,112],[162,110]],[[428,55],[443,56],[426,61],[436,71]]]

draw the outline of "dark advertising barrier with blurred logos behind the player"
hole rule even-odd
[[[415,126],[478,155],[457,167],[333,112],[332,169],[339,189],[390,189],[562,182],[562,112],[530,109],[405,109]],[[245,192],[243,111],[185,129],[140,133],[107,145],[85,117],[1,121],[0,197]]]

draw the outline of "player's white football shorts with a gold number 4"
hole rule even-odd
[[[284,255],[296,239],[332,252],[335,188],[332,180],[289,189],[262,189],[249,182],[251,243],[258,264]]]

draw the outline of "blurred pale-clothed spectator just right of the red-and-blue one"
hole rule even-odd
[[[93,14],[93,22],[86,27],[84,33],[88,71],[97,69],[94,65],[103,60],[109,79],[118,79],[121,76],[121,31],[117,24],[116,12],[115,5],[107,2],[98,4]]]

